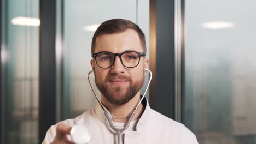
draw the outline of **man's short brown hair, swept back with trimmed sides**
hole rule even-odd
[[[101,25],[97,28],[96,32],[94,33],[94,37],[92,37],[91,53],[94,53],[97,37],[99,37],[102,34],[121,33],[126,31],[127,29],[132,29],[138,33],[139,39],[141,40],[141,45],[143,47],[144,52],[146,53],[146,40],[145,35],[142,32],[141,28],[139,28],[139,26],[135,23],[125,19],[112,19],[101,23]]]

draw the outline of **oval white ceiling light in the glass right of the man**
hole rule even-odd
[[[206,29],[225,29],[235,27],[235,23],[228,21],[210,21],[203,22],[201,26]]]

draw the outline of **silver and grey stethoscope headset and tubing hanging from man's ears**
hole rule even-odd
[[[96,95],[96,93],[95,93],[95,91],[94,91],[94,88],[93,88],[92,85],[91,85],[91,81],[90,81],[90,74],[91,74],[94,70],[90,71],[90,72],[88,73],[88,75],[87,75],[88,81],[89,81],[90,86],[91,86],[91,89],[92,89],[92,92],[94,92],[95,98],[97,99],[97,101],[98,101],[98,103],[100,104],[102,110],[104,111],[104,115],[107,117],[110,127],[111,127],[114,131],[117,132],[117,135],[118,135],[118,144],[120,144],[120,142],[121,142],[121,133],[122,133],[123,131],[125,131],[125,130],[129,127],[129,125],[130,125],[130,123],[131,123],[131,119],[132,119],[132,117],[135,115],[135,112],[137,111],[139,105],[141,104],[143,98],[145,97],[145,94],[147,93],[149,84],[150,84],[150,82],[151,82],[151,79],[152,79],[152,73],[151,73],[151,71],[150,71],[149,69],[144,69],[144,70],[148,71],[149,74],[150,74],[148,85],[147,85],[147,87],[146,87],[146,90],[145,90],[144,94],[143,94],[142,97],[141,97],[141,100],[139,101],[139,103],[137,104],[137,106],[135,107],[135,109],[133,109],[132,113],[131,113],[130,116],[128,117],[128,121],[125,123],[125,125],[124,125],[123,128],[115,128],[115,126],[114,126],[114,124],[113,124],[113,123],[114,123],[114,120],[113,120],[113,117],[112,117],[111,113],[110,113],[108,110],[106,110],[106,109],[104,108],[104,106],[103,106],[103,104],[101,103],[100,99],[98,99],[98,97],[97,97],[97,95]],[[73,128],[72,128],[72,129],[73,129]],[[89,141],[89,140],[88,140],[88,141]]]

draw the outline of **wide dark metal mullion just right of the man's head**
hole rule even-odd
[[[150,1],[150,2],[153,2],[153,1]],[[154,76],[155,87],[153,87],[153,89],[150,89],[150,91],[153,91],[155,93],[155,96],[154,95],[150,96],[150,105],[152,105],[152,108],[154,110],[162,113],[167,117],[174,119],[174,112],[175,112],[174,111],[174,95],[175,95],[174,1],[161,0],[161,1],[155,1],[155,2],[156,2],[155,10],[154,10],[154,7],[150,6],[150,15],[153,14],[152,15],[153,19],[154,19],[154,15],[156,18],[155,20],[156,29],[154,29],[153,26],[152,27],[150,26],[150,35],[156,34],[156,41],[154,42],[157,47],[155,59],[150,58],[150,61],[151,60],[155,61],[155,65],[150,64],[150,66],[153,66],[153,68],[155,68],[155,76]],[[150,5],[151,4],[154,4],[154,2],[150,3]],[[151,32],[154,32],[154,33],[151,33]],[[152,35],[152,37],[150,38],[154,38],[154,35]],[[155,44],[153,43],[153,45]],[[150,50],[150,57],[152,56],[154,55],[151,55],[151,50]],[[167,105],[168,107],[166,107]]]

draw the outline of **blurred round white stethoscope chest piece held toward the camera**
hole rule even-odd
[[[70,131],[71,140],[77,144],[86,144],[90,141],[90,133],[86,125],[74,125]]]

